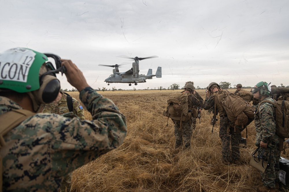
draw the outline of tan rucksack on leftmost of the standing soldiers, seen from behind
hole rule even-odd
[[[189,121],[191,113],[188,109],[187,93],[173,93],[168,97],[168,107],[163,115],[178,121]]]

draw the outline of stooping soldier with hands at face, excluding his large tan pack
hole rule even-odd
[[[210,96],[210,93],[212,94]],[[220,115],[220,132],[219,137],[222,141],[222,159],[224,164],[238,164],[240,159],[240,147],[239,141],[241,139],[241,132],[234,131],[234,127],[230,126],[227,113],[221,104],[221,100],[225,96],[223,90],[221,90],[220,85],[212,82],[208,86],[208,91],[206,93],[205,102],[203,108],[208,110],[216,105],[216,111],[214,114]],[[227,130],[229,129],[229,130]],[[231,142],[231,152],[230,152],[230,142]]]

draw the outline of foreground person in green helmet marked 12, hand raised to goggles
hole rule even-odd
[[[0,53],[3,191],[56,192],[64,176],[117,148],[126,136],[125,116],[87,84],[71,60],[58,61],[62,68],[57,70],[47,60],[45,54],[27,48]],[[92,121],[39,113],[58,96],[55,72],[63,66]]]

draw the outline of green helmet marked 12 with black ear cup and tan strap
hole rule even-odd
[[[58,95],[60,81],[45,54],[27,48],[0,53],[0,92],[27,93],[35,112]]]

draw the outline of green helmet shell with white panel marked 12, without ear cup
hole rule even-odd
[[[13,48],[0,53],[1,88],[25,93],[38,90],[39,70],[47,56],[27,48]]]

